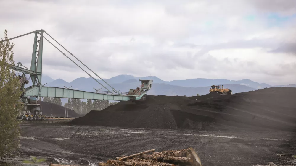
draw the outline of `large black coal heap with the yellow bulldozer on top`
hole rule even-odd
[[[202,96],[153,96],[146,101],[121,101],[73,120],[77,125],[130,128],[205,129],[221,125],[294,130],[296,88]]]

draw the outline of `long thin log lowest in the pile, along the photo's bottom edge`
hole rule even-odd
[[[118,161],[118,160],[108,160],[108,164],[112,165],[125,165],[125,166],[175,166],[174,164],[168,164],[163,162],[137,162],[134,160],[128,161]]]

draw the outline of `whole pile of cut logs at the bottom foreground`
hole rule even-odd
[[[149,154],[152,153],[152,154]],[[116,157],[115,160],[100,162],[99,166],[202,166],[193,148],[154,152],[154,149]]]

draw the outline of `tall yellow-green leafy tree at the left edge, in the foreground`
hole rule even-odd
[[[4,38],[0,41],[0,157],[5,153],[11,153],[18,148],[20,127],[17,116],[22,106],[18,104],[22,94],[18,77],[15,71],[7,67],[14,65],[13,47],[7,40],[7,30],[4,30]]]

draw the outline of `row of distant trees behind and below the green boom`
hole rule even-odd
[[[40,99],[41,100],[41,99]],[[51,102],[57,105],[62,105],[61,98],[54,97],[43,97],[44,102]],[[91,110],[104,110],[109,105],[117,104],[118,102],[109,102],[109,100],[91,100],[87,99],[87,102],[84,102],[80,99],[68,99],[68,102],[64,104],[64,107],[74,110],[79,114],[86,114]]]

